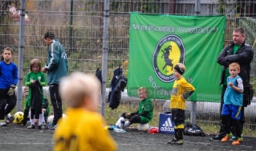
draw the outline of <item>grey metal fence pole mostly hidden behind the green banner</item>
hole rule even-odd
[[[201,3],[200,0],[196,0],[195,2],[195,15],[201,13]],[[197,101],[191,101],[191,113],[190,113],[190,122],[196,124],[196,116],[197,115]]]

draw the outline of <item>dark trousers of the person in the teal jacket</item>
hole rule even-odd
[[[53,125],[56,125],[59,118],[63,117],[62,99],[59,96],[59,85],[49,85],[49,92],[51,97],[51,105],[53,106],[54,118],[52,121]]]

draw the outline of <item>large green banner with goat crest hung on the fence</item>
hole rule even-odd
[[[184,63],[184,77],[196,91],[189,101],[220,101],[221,66],[226,16],[177,16],[131,13],[128,96],[144,86],[148,96],[169,99],[173,67]]]

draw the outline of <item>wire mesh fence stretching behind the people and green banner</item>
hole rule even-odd
[[[225,46],[232,41],[232,30],[237,26],[246,29],[246,42],[254,46],[256,2],[245,0],[201,0],[200,11],[195,12],[195,0],[110,0],[108,29],[107,88],[113,71],[121,66],[128,76],[129,13],[174,14],[174,15],[217,15],[226,14]],[[0,49],[10,46],[14,50],[14,62],[18,65],[19,7],[17,0],[0,2]],[[26,26],[23,79],[30,71],[32,58],[47,61],[47,46],[43,34],[55,32],[65,46],[68,55],[69,72],[79,70],[95,73],[102,66],[102,45],[104,26],[104,0],[26,0]],[[255,50],[255,47],[254,47]],[[255,60],[252,63],[251,83],[255,82]],[[129,71],[132,72],[132,71]],[[254,85],[256,87],[256,85]],[[106,94],[108,95],[108,94]],[[123,105],[131,109],[137,105],[135,98],[122,96]],[[154,100],[157,112],[162,112],[165,101]],[[136,108],[136,107],[135,107]],[[124,108],[125,109],[125,108]],[[187,109],[189,110],[189,103]],[[246,123],[255,125],[256,106],[246,109]],[[219,120],[219,104],[197,105],[197,121],[216,122]],[[108,110],[109,117],[117,119],[119,113]],[[157,118],[157,117],[154,117]],[[108,119],[107,119],[108,121]]]

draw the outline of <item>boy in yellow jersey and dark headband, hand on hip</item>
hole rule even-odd
[[[185,122],[185,99],[188,98],[194,91],[193,85],[189,84],[182,75],[185,72],[185,66],[182,63],[177,63],[173,69],[173,75],[177,77],[173,84],[173,90],[170,100],[170,108],[172,109],[172,120],[175,123],[175,137],[168,144],[183,145],[183,132]]]

